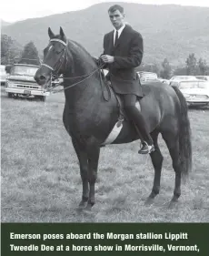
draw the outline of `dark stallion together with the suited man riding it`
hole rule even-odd
[[[184,95],[177,87],[169,87],[160,82],[152,85],[147,83],[144,86],[145,96],[140,100],[141,112],[134,107],[136,98],[142,97],[134,71],[143,56],[142,36],[130,26],[124,26],[123,9],[110,9],[109,15],[115,28],[120,27],[123,31],[116,43],[114,31],[104,36],[102,58],[109,67],[110,80],[115,91],[124,98],[126,112],[148,144],[141,148],[140,153],[149,153],[154,148],[150,154],[154,166],[154,185],[146,203],[153,203],[160,191],[164,160],[158,145],[158,136],[161,134],[172,158],[175,173],[174,196],[171,200],[173,204],[181,195],[182,177],[188,176],[192,169],[190,121]],[[83,186],[79,207],[91,210],[95,204],[100,148],[118,120],[117,100],[111,97],[107,101],[101,97],[104,96],[104,79],[98,76],[100,70],[85,47],[67,39],[62,27],[59,35],[55,35],[49,27],[48,35],[50,41],[44,50],[43,63],[35,73],[35,81],[46,88],[52,74],[63,75],[63,122],[75,148]],[[142,116],[147,117],[147,130],[153,138],[154,147]],[[130,122],[124,122],[121,133],[111,144],[129,143],[138,138],[136,128]],[[116,157],[114,155],[113,158]]]

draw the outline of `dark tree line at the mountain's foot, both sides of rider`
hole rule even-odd
[[[19,63],[39,65],[39,55],[33,41],[27,43],[22,49],[10,36],[1,35],[1,64],[12,64],[20,59]],[[142,63],[138,71],[154,72],[158,77],[169,79],[172,76],[209,76],[209,65],[202,57],[196,58],[194,53],[187,56],[184,65],[173,67],[167,58],[162,63]]]

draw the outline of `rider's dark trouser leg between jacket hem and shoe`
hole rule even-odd
[[[123,94],[121,96],[124,100],[124,111],[127,114],[128,118],[130,118],[131,121],[134,122],[134,125],[139,130],[144,141],[146,141],[149,145],[152,145],[153,139],[148,132],[147,124],[144,120],[144,117],[139,109],[135,107],[137,97],[134,94]]]

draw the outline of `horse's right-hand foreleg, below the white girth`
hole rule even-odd
[[[89,138],[86,145],[88,158],[88,182],[89,182],[89,197],[87,209],[91,209],[95,204],[95,181],[97,177],[98,161],[100,147],[95,138]]]

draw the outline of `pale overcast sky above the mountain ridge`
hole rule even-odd
[[[80,9],[104,2],[126,2],[151,5],[194,5],[209,7],[209,0],[2,0],[0,18],[7,22],[15,22],[27,18],[54,15]]]

